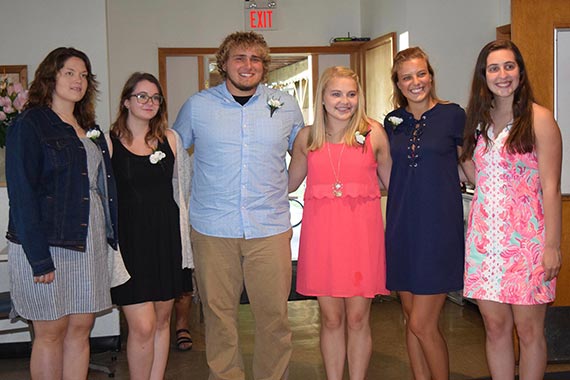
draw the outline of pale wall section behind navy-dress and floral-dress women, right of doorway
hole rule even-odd
[[[510,23],[510,0],[361,0],[362,33],[409,32],[435,69],[442,99],[467,105],[475,60],[496,27]]]

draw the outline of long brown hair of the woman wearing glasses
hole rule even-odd
[[[128,100],[137,87],[137,84],[146,80],[153,83],[156,88],[158,88],[158,93],[164,99],[164,94],[162,92],[162,87],[160,82],[156,77],[149,73],[136,72],[131,74],[129,79],[125,82],[123,86],[123,91],[121,91],[121,99],[119,101],[119,111],[117,112],[117,118],[111,124],[111,134],[118,139],[125,139],[128,143],[133,141],[133,134],[127,125],[127,119],[129,117],[129,110],[125,107],[125,101]],[[151,94],[149,94],[151,95]],[[150,101],[150,100],[149,100]],[[149,122],[149,130],[145,136],[146,144],[153,148],[153,143],[155,141],[163,142],[166,129],[168,128],[168,120],[166,117],[166,102],[163,102],[158,106],[158,112]]]

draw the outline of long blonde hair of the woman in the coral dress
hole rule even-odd
[[[348,128],[342,137],[342,142],[349,146],[357,146],[359,144],[356,142],[354,134],[357,131],[360,133],[365,133],[368,131],[370,119],[368,116],[366,116],[366,112],[364,110],[364,91],[362,91],[362,87],[360,86],[358,75],[356,75],[356,73],[348,67],[329,67],[323,72],[317,85],[317,96],[315,99],[315,120],[309,131],[309,139],[307,142],[307,148],[309,150],[320,149],[326,141],[325,126],[327,122],[327,112],[325,111],[325,106],[323,104],[323,96],[329,82],[335,78],[350,78],[354,80],[358,93],[358,104],[356,105],[356,111],[349,121]]]

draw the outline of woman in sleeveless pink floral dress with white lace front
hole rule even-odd
[[[476,184],[466,236],[466,297],[477,300],[493,379],[542,379],[544,318],[560,268],[562,141],[552,113],[533,102],[510,41],[479,53],[462,166]]]

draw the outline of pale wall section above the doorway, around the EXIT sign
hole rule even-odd
[[[244,30],[240,0],[108,0],[107,8],[113,114],[133,71],[158,76],[159,47],[217,47]],[[354,0],[277,0],[275,12],[277,30],[263,32],[270,46],[323,46],[333,37],[360,35]]]

